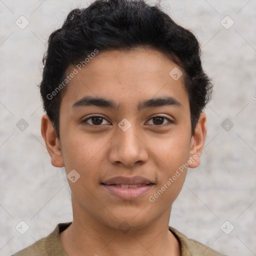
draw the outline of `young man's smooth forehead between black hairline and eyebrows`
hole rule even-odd
[[[171,76],[172,70],[179,67],[158,50],[139,48],[99,51],[89,61],[87,59],[86,64],[83,62],[78,67],[70,66],[66,72],[68,74],[76,70],[61,100],[61,104],[69,107],[86,95],[107,97],[120,107],[126,103],[134,105],[135,102],[141,102],[142,98],[159,96],[171,96],[182,106],[188,105],[183,76],[178,79]]]

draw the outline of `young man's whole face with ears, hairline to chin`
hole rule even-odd
[[[74,217],[115,228],[169,217],[206,132],[202,114],[191,136],[188,95],[183,77],[169,75],[174,67],[153,49],[99,52],[63,93],[59,140],[42,121],[52,164],[72,177]]]

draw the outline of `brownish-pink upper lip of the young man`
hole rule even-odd
[[[114,184],[128,184],[128,185],[136,185],[136,184],[153,184],[149,179],[142,176],[133,176],[133,177],[124,177],[124,176],[116,176],[109,178],[102,182],[105,185],[114,185]]]

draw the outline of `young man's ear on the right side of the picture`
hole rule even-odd
[[[200,164],[200,155],[202,152],[205,136],[206,136],[206,115],[200,113],[198,122],[194,129],[194,134],[191,137],[190,151],[189,151],[189,165],[190,168],[195,168]],[[191,163],[190,163],[191,162]]]

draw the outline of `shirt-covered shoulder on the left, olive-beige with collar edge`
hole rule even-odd
[[[30,246],[16,252],[11,256],[45,256],[59,255],[66,256],[66,253],[59,240],[59,232],[67,228],[71,222],[59,223],[47,236],[39,239]]]

